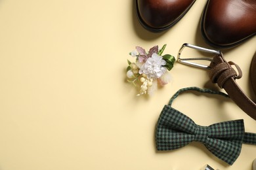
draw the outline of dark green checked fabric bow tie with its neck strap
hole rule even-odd
[[[171,107],[173,99],[186,90],[228,95],[222,92],[184,88],[171,98],[169,105],[161,111],[156,127],[156,146],[158,150],[175,150],[192,141],[202,142],[215,156],[232,165],[241,152],[242,143],[256,144],[255,133],[245,133],[244,120],[221,122],[211,126],[199,126],[176,109]]]

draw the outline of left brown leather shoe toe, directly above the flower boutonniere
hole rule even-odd
[[[135,0],[137,16],[143,27],[160,32],[175,25],[196,0]]]

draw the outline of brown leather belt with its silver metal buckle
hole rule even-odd
[[[215,54],[213,59],[209,58],[181,58],[181,52],[184,47],[194,48],[196,50],[200,50],[202,52],[209,52]],[[192,60],[207,60],[211,61],[210,65],[202,65],[198,63],[192,62]],[[256,120],[256,104],[245,95],[243,90],[236,83],[236,79],[242,77],[242,71],[238,65],[236,65],[232,61],[226,61],[223,58],[223,54],[219,50],[210,50],[207,48],[202,48],[200,46],[194,46],[192,44],[183,44],[178,54],[178,61],[184,63],[186,65],[192,65],[194,67],[206,68],[209,69],[209,77],[211,82],[217,83],[220,88],[224,88],[226,93],[230,96],[230,98],[240,107],[240,109],[244,110],[246,114],[251,116],[254,120]],[[232,67],[234,65],[236,70]]]

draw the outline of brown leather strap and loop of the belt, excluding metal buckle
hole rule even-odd
[[[217,82],[220,88],[224,88],[234,103],[236,103],[238,107],[244,110],[245,113],[251,116],[251,118],[256,120],[256,104],[251,99],[249,99],[247,95],[245,95],[243,90],[236,83],[236,78],[240,78],[242,76],[242,71],[236,65],[238,72],[241,73],[238,75],[234,74],[235,71],[230,63],[231,65],[235,65],[233,62],[226,62],[222,56],[215,56],[210,64],[210,79],[213,83]]]

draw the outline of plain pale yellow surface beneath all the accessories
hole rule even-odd
[[[151,97],[137,97],[125,80],[129,52],[167,43],[177,56],[184,42],[211,48],[202,39],[200,16],[206,1],[196,1],[165,33],[139,24],[133,1],[0,1],[0,169],[251,169],[256,146],[243,144],[232,166],[203,144],[156,152],[154,128],[169,98],[180,88],[218,89],[207,72],[175,63],[173,81]],[[256,37],[223,50],[244,76],[238,84],[255,99],[249,65]],[[203,56],[192,50],[190,56]],[[232,101],[186,93],[173,107],[207,126],[244,119],[256,122]]]

